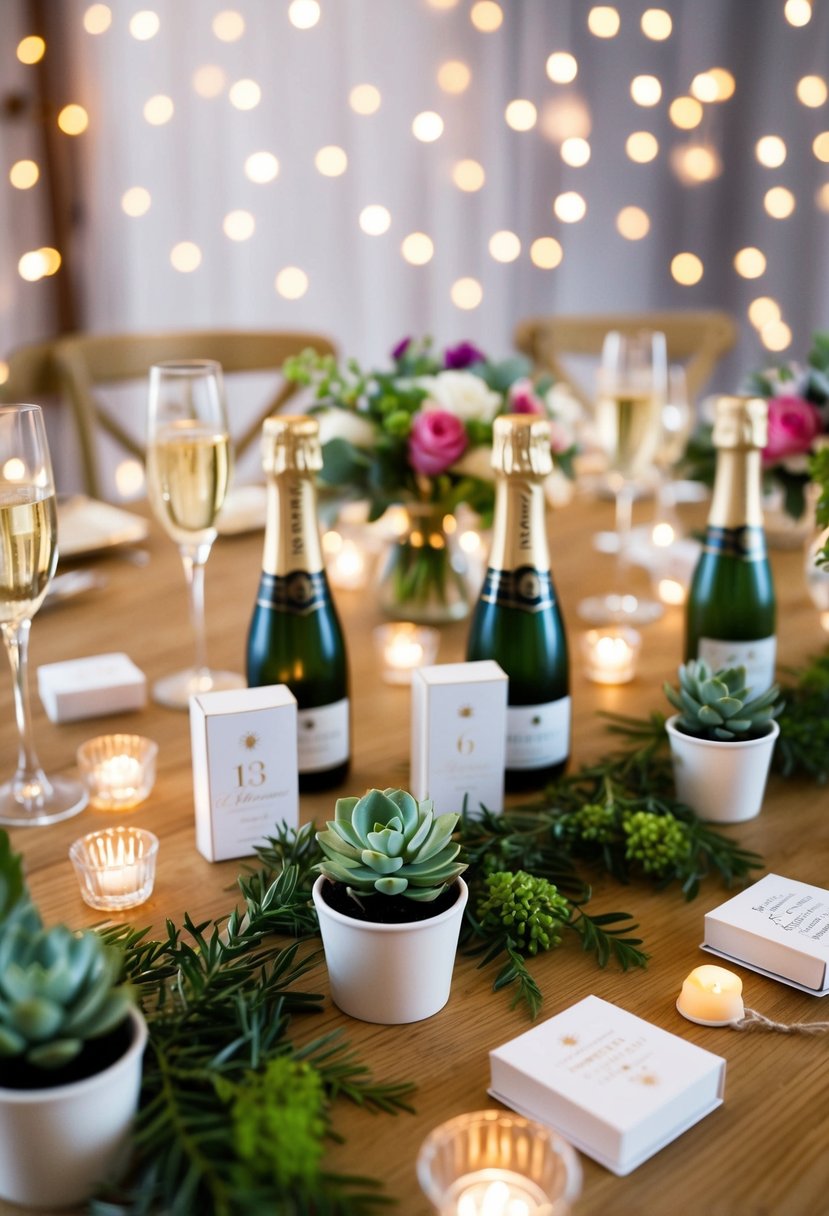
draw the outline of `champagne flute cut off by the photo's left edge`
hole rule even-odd
[[[0,823],[55,823],[83,811],[86,790],[47,777],[34,750],[27,657],[32,618],[57,565],[57,513],[43,411],[0,406],[0,629],[15,680],[17,771],[0,786]]]

